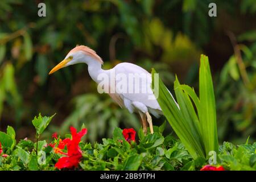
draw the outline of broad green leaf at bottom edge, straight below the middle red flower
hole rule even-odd
[[[141,166],[142,163],[142,155],[132,155],[129,156],[125,164],[123,165],[123,170],[125,171],[137,171],[139,166]]]

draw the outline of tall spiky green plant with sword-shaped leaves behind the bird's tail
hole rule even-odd
[[[157,97],[159,105],[192,157],[207,158],[210,151],[217,152],[216,108],[208,57],[201,55],[200,59],[199,97],[193,88],[181,85],[176,77],[174,90],[179,107],[162,80],[159,79],[159,86],[156,86],[155,73],[152,69],[152,88],[154,93],[159,94]]]

